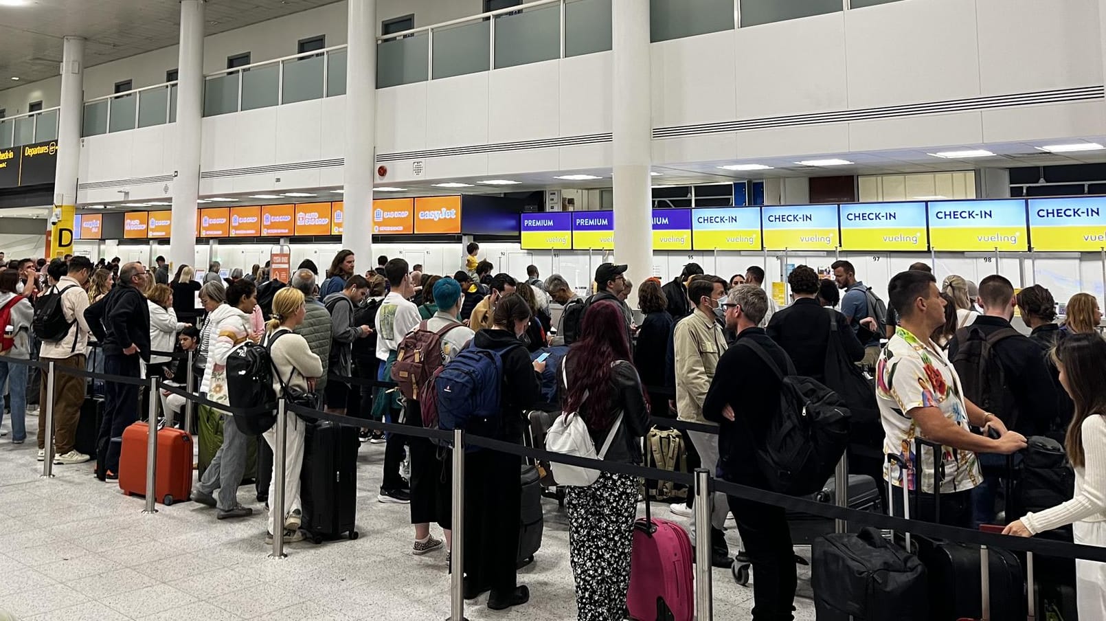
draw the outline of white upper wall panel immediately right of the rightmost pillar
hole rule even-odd
[[[653,126],[733,118],[734,45],[733,31],[729,30],[653,43]]]

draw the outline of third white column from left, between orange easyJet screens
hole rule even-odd
[[[349,0],[346,51],[345,228],[342,246],[357,271],[373,257],[373,179],[376,178],[376,0]]]

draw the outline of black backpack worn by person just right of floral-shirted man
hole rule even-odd
[[[1006,428],[1018,428],[1018,404],[1006,383],[1006,373],[994,346],[1005,339],[1020,337],[1013,328],[1002,328],[985,334],[978,325],[957,330],[957,354],[952,366],[960,375],[964,396],[1002,420]]]

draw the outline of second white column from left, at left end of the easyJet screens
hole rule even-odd
[[[196,199],[200,190],[204,114],[204,0],[180,0],[177,61],[177,167],[173,180],[170,271],[196,260]],[[196,267],[196,266],[192,266]],[[202,266],[206,268],[207,266]]]

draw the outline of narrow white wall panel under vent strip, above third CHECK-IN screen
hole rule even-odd
[[[979,112],[910,118],[859,121],[848,124],[851,151],[959,146],[983,142]]]

